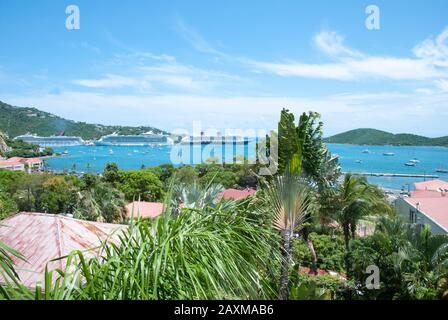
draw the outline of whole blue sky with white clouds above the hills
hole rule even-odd
[[[80,9],[67,30],[65,9]],[[380,29],[365,9],[380,9]],[[104,124],[447,135],[448,2],[0,0],[0,100]]]

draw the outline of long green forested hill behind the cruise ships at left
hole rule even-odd
[[[140,134],[148,131],[161,133],[163,131],[142,126],[105,126],[100,124],[89,124],[75,122],[55,116],[36,108],[14,107],[0,101],[0,131],[6,133],[10,138],[35,133],[40,136],[58,135],[62,132],[66,136],[79,136],[83,139],[98,139],[103,135],[113,132],[121,134]]]

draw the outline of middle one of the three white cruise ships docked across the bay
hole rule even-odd
[[[95,142],[97,146],[162,146],[172,144],[172,140],[163,134],[150,132],[139,135],[119,135],[113,133],[101,137]]]

